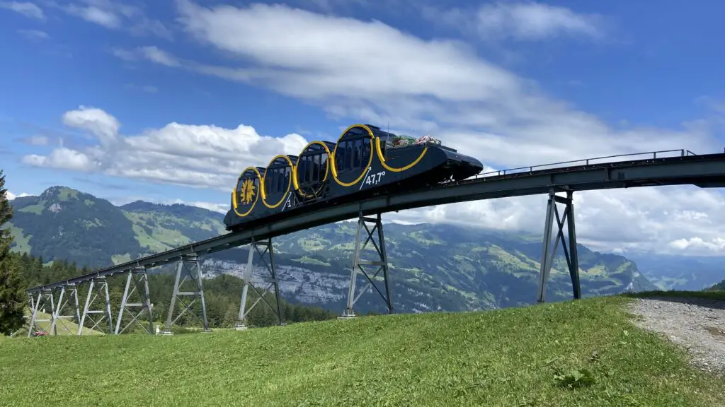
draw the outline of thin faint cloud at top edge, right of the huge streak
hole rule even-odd
[[[539,41],[561,35],[599,39],[605,35],[604,19],[599,15],[534,1],[487,3],[476,10],[424,7],[423,17],[486,41]]]

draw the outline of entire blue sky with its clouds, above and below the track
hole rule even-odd
[[[432,134],[497,169],[725,145],[721,2],[146,3],[0,1],[12,193],[67,185],[223,210],[244,167],[355,122]],[[725,248],[717,191],[581,196],[596,247]],[[539,230],[541,205],[400,216]]]

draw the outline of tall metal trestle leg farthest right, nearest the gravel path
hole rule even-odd
[[[564,214],[559,217],[559,209],[557,204],[564,204]],[[556,235],[555,243],[551,245],[551,235],[554,229],[554,218],[558,225],[558,233]],[[567,226],[568,242],[564,238],[564,226]],[[546,225],[544,227],[544,244],[542,250],[542,261],[541,269],[539,272],[539,292],[537,301],[539,303],[544,302],[546,297],[546,283],[549,280],[549,274],[551,273],[552,263],[556,254],[556,249],[559,246],[559,240],[561,240],[562,248],[564,250],[564,258],[569,269],[569,276],[571,277],[571,286],[573,290],[574,298],[581,298],[581,285],[579,284],[579,256],[576,251],[576,229],[574,227],[574,205],[573,205],[573,191],[566,191],[566,198],[563,196],[556,195],[554,190],[549,191],[549,202],[547,204],[547,215]],[[568,243],[568,245],[567,245]],[[568,247],[567,247],[568,246]]]

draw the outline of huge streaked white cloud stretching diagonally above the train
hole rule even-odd
[[[679,129],[613,129],[546,96],[531,80],[486,62],[460,42],[423,41],[381,22],[282,5],[178,4],[183,28],[197,41],[238,57],[233,59],[236,67],[182,59],[154,46],[117,54],[254,81],[318,104],[335,117],[390,122],[392,130],[405,133],[434,132],[499,167],[717,146],[711,132],[696,122]],[[523,144],[529,148],[521,148]]]

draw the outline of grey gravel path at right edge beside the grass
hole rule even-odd
[[[725,301],[703,298],[638,298],[635,324],[683,345],[705,372],[725,375]]]

